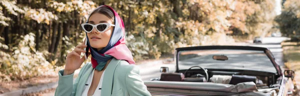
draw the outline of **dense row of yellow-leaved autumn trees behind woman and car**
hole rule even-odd
[[[42,52],[29,65],[45,59],[53,68],[61,66],[67,52],[85,37],[80,23],[102,4],[123,19],[135,60],[159,58],[175,47],[232,42],[236,35],[264,35],[274,17],[274,0],[1,0],[0,42],[9,48],[0,52],[30,59]],[[15,53],[24,47],[30,48],[26,54]],[[13,67],[8,62],[0,65]]]

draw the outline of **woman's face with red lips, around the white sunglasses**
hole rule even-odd
[[[108,18],[104,14],[93,13],[89,19],[88,23],[90,24],[98,24],[98,23],[112,23],[112,20]],[[91,32],[87,33],[87,37],[90,43],[90,46],[96,48],[97,50],[101,50],[104,48],[110,39],[111,33],[113,31],[113,26],[110,26],[107,30],[100,33],[96,28],[93,28]]]

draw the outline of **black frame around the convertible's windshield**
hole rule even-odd
[[[263,51],[266,56],[272,62],[274,68],[276,69],[278,75],[282,75],[280,66],[275,62],[275,58],[271,51],[265,47],[255,47],[255,46],[233,46],[233,45],[211,45],[211,46],[191,46],[191,47],[179,47],[175,49],[174,57],[176,59],[176,70],[175,72],[179,72],[178,61],[179,61],[179,52],[183,50],[210,50],[210,49],[237,49],[237,50],[259,50]]]

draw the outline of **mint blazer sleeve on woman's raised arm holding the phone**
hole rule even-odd
[[[79,79],[82,75],[83,70],[85,69],[87,64],[85,64],[79,71],[78,77],[76,78],[75,82],[73,83],[73,76],[74,73],[69,75],[63,75],[64,69],[61,69],[58,71],[58,85],[55,89],[55,96],[60,95],[75,95],[77,84],[79,82]]]

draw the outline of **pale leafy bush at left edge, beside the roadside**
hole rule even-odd
[[[34,49],[34,34],[29,33],[20,36],[17,47],[12,47],[11,54],[0,51],[0,81],[13,79],[26,79],[32,76],[48,75],[56,73],[52,63],[45,59],[47,51]],[[7,49],[7,45],[2,45]],[[56,60],[57,61],[57,60]]]

